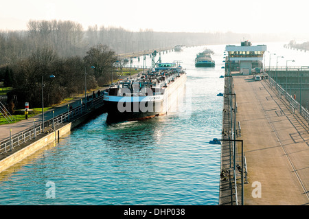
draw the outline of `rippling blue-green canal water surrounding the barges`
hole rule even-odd
[[[208,142],[222,130],[216,94],[224,90],[225,45],[209,46],[215,68],[195,68],[203,48],[162,54],[187,71],[173,112],[113,125],[96,117],[3,172],[0,205],[218,205],[220,145]]]

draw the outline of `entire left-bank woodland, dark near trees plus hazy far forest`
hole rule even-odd
[[[17,97],[22,105],[41,104],[42,77],[46,92],[45,106],[56,104],[84,89],[111,81],[117,55],[135,51],[168,48],[175,45],[210,45],[238,43],[248,34],[132,32],[122,27],[89,26],[73,21],[35,21],[25,31],[0,31],[0,78],[5,86],[14,87],[9,101]],[[94,69],[89,67],[94,66]],[[53,74],[56,78],[49,78]]]

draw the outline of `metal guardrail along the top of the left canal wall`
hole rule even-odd
[[[49,130],[54,130],[55,126],[58,126],[64,122],[72,121],[73,119],[80,117],[80,115],[88,113],[93,109],[102,106],[102,104],[103,95],[100,95],[99,97],[96,97],[93,100],[89,100],[89,102],[87,102],[87,109],[85,104],[77,106],[76,108],[53,117],[52,119],[47,119],[47,121],[44,122],[44,127]],[[35,124],[34,120],[34,125],[31,128],[27,128],[21,132],[16,133],[15,135],[11,135],[11,132],[12,130],[10,130],[10,137],[0,142],[0,154],[8,152],[8,150],[12,150],[16,146],[19,146],[21,143],[35,139],[37,135],[40,135],[43,132],[43,124],[42,122]]]

